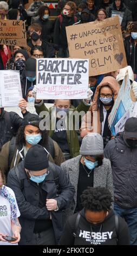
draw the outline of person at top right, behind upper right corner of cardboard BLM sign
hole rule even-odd
[[[128,22],[132,21],[132,13],[123,3],[123,0],[113,0],[113,3],[106,9],[106,12],[108,17],[119,16],[122,31],[125,31]]]

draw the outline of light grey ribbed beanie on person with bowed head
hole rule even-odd
[[[80,155],[95,156],[103,154],[103,138],[99,133],[90,132],[82,139]]]

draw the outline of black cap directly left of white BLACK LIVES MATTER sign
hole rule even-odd
[[[25,75],[30,77],[36,76],[36,59],[27,59],[25,62]]]

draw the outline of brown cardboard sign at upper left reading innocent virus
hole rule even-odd
[[[0,20],[0,45],[26,46],[25,22],[17,20]]]

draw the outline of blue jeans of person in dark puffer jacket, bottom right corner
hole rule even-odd
[[[131,245],[137,245],[137,208],[125,209],[114,203],[114,211],[127,222]]]

